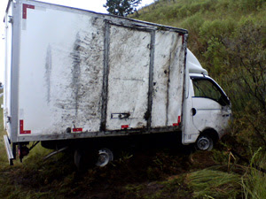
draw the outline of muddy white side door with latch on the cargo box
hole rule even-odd
[[[106,130],[147,126],[151,32],[110,27]]]

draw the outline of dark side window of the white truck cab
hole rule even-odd
[[[230,105],[230,101],[223,93],[223,90],[217,86],[215,81],[207,78],[192,77],[194,97],[205,97],[215,100],[221,105]]]

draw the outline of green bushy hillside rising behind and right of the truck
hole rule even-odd
[[[265,149],[266,1],[160,0],[133,17],[188,29],[188,48],[231,98],[231,134]]]

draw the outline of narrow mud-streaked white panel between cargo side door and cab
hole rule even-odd
[[[173,126],[181,116],[184,85],[183,36],[156,31],[152,126]]]

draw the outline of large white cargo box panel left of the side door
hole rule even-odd
[[[103,28],[103,20],[90,15],[27,8],[20,38],[24,130],[31,135],[64,134],[67,127],[99,130]]]

